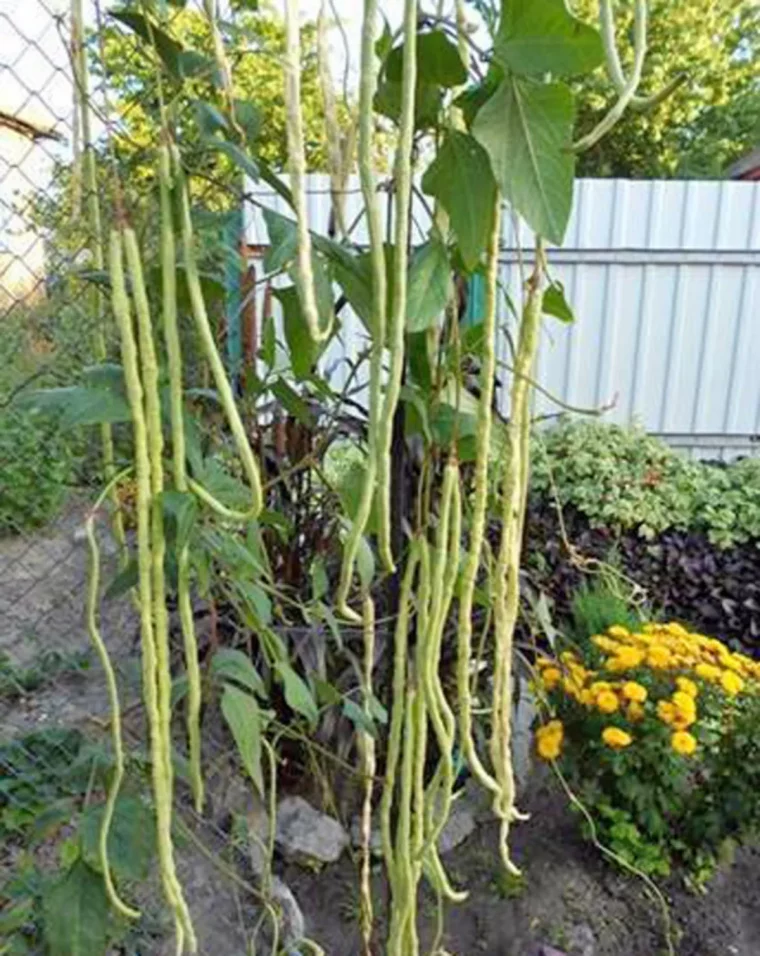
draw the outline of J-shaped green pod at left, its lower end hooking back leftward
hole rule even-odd
[[[235,441],[237,453],[243,466],[248,485],[251,489],[251,507],[248,511],[240,512],[227,508],[210,495],[198,482],[189,480],[188,484],[195,494],[201,498],[217,514],[232,521],[246,522],[255,518],[261,511],[262,492],[259,469],[254,458],[251,444],[248,441],[248,435],[245,431],[240,412],[235,403],[235,396],[232,392],[232,386],[227,378],[224,363],[216,348],[214,333],[211,330],[211,324],[208,320],[206,303],[203,299],[200,279],[198,277],[198,264],[195,258],[193,220],[190,215],[190,196],[185,182],[185,173],[182,169],[182,160],[179,150],[175,145],[171,146],[172,157],[174,160],[174,174],[179,193],[180,214],[182,219],[182,251],[185,260],[185,273],[187,276],[187,288],[190,294],[190,304],[195,320],[198,336],[203,346],[206,360],[211,367],[211,374],[214,377],[214,384],[219,393],[219,400],[224,409],[224,414],[232,432]]]

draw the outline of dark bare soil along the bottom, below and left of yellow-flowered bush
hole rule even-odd
[[[534,773],[512,849],[522,885],[506,883],[497,860],[497,829],[478,828],[444,857],[450,876],[469,899],[447,908],[443,945],[451,956],[660,956],[668,953],[660,904],[642,882],[605,863],[580,836],[578,820],[556,782]],[[286,879],[306,925],[330,956],[361,952],[355,929],[356,890],[350,861],[307,876],[291,867]],[[760,954],[760,851],[745,848],[712,881],[705,894],[677,880],[663,886],[673,921],[677,956]],[[376,886],[378,904],[382,886]],[[379,907],[381,908],[381,907]],[[435,900],[424,892],[423,942],[433,938]],[[382,912],[379,922],[382,923]],[[546,947],[546,948],[544,948]],[[551,949],[550,947],[553,947]],[[422,952],[427,952],[425,946]],[[376,950],[378,954],[381,948]]]

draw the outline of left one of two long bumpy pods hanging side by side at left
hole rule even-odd
[[[130,316],[127,284],[124,277],[124,248],[120,229],[111,233],[110,277],[113,312],[121,338],[121,355],[127,398],[132,413],[135,446],[135,475],[137,482],[137,558],[138,594],[140,599],[140,632],[143,662],[143,695],[151,744],[151,768],[156,802],[156,830],[159,869],[164,895],[174,915],[177,952],[196,952],[197,941],[187,904],[177,879],[174,848],[171,837],[172,805],[167,763],[170,760],[167,741],[163,734],[157,677],[157,654],[153,626],[153,562],[151,555],[151,462],[148,428],[143,405],[143,387],[140,380],[139,359],[132,319]]]

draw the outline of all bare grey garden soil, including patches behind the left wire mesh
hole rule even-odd
[[[88,647],[82,614],[86,548],[78,532],[82,518],[82,508],[72,507],[54,527],[23,540],[0,541],[0,650],[17,666],[28,665],[40,648],[71,652]],[[108,568],[104,577],[108,580]],[[126,690],[132,681],[125,675],[137,670],[137,621],[127,601],[106,604],[104,611],[104,635]],[[129,693],[125,697],[129,699]],[[59,675],[22,700],[0,701],[0,737],[51,726],[83,726],[91,717],[106,714],[102,674],[93,665]],[[139,737],[141,715],[134,711],[129,723],[133,722]],[[616,870],[583,841],[577,818],[547,770],[533,773],[521,809],[531,814],[529,821],[515,826],[512,837],[515,860],[524,872],[522,883],[505,882],[492,823],[480,825],[444,858],[453,882],[470,892],[466,903],[447,908],[443,935],[447,953],[660,956],[668,952],[660,905],[647,895],[640,880]],[[206,851],[201,854],[192,843],[180,841],[178,865],[195,914],[201,952],[234,956],[245,952],[246,927],[256,919],[253,900],[240,882],[241,876],[248,880],[251,874],[246,873],[245,855],[238,853],[237,882],[229,879],[229,833],[215,830],[210,836],[208,824],[198,821],[198,834]],[[222,857],[228,862],[220,868]],[[280,862],[275,868],[294,892],[307,931],[328,956],[357,956],[361,946],[355,864],[344,856],[318,873]],[[387,899],[379,865],[377,870],[374,895],[378,937],[382,938]],[[760,956],[760,850],[737,852],[705,894],[690,892],[676,879],[663,890],[678,956]],[[422,891],[419,910],[426,943],[423,952],[427,952],[436,913],[428,890]],[[164,929],[152,938],[141,934],[139,951],[156,956],[170,952]],[[380,956],[382,947],[375,952]]]

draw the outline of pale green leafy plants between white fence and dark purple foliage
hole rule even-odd
[[[760,460],[694,462],[639,428],[570,419],[535,440],[531,488],[597,527],[699,531],[719,547],[760,539]]]

